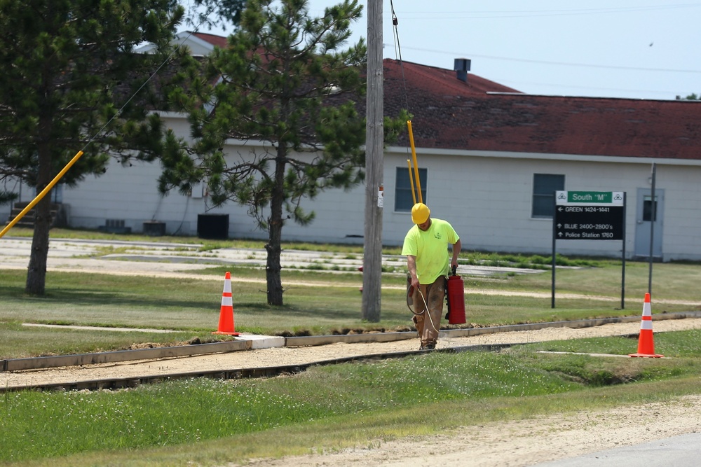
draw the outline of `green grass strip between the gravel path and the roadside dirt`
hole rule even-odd
[[[242,461],[309,452],[311,446],[336,449],[374,438],[698,393],[699,337],[699,330],[658,335],[671,359],[536,353],[565,347],[629,351],[630,342],[608,337],[529,344],[499,353],[434,352],[347,363],[292,377],[192,379],[123,391],[6,393],[0,398],[0,461],[188,465],[196,459],[200,465],[215,465],[222,453],[212,443],[229,446],[225,455]],[[298,431],[312,432],[314,438],[292,434]],[[285,443],[264,445],[271,436]],[[172,449],[178,446],[182,448]],[[171,448],[137,451],[139,461],[129,460],[135,458],[130,454],[134,449],[158,447]],[[173,459],[176,452],[179,457]]]

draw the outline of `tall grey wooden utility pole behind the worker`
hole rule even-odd
[[[365,134],[365,247],[362,259],[362,319],[380,321],[382,295],[382,177],[384,90],[382,1],[367,1],[367,127]]]

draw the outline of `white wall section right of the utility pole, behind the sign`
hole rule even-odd
[[[403,156],[403,155],[402,155]],[[634,251],[638,221],[638,188],[651,188],[651,161],[608,158],[596,162],[482,156],[418,156],[418,165],[428,168],[427,204],[435,217],[454,225],[463,247],[483,251],[550,254],[552,220],[531,218],[533,174],[562,174],[565,190],[625,191],[626,256]],[[386,157],[385,177],[395,167],[405,167],[406,157]],[[665,161],[662,161],[665,162]],[[679,163],[679,161],[673,161]],[[701,166],[660,165],[657,161],[656,189],[664,190],[662,255],[665,260],[701,259]],[[422,184],[424,182],[422,181]],[[386,207],[393,206],[393,190],[386,182]],[[659,193],[659,192],[658,192]],[[389,217],[389,221],[388,221]],[[401,242],[409,228],[407,215],[386,209],[383,240]],[[620,240],[558,240],[558,253],[594,256],[621,254]]]

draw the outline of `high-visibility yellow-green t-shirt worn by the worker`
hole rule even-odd
[[[446,276],[450,268],[448,244],[455,244],[460,237],[449,222],[431,218],[428,230],[414,225],[404,237],[403,256],[416,256],[416,277],[419,284],[433,284],[440,276]]]

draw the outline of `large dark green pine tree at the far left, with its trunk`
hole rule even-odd
[[[161,153],[164,129],[149,111],[180,74],[161,79],[159,93],[149,76],[183,15],[177,0],[0,0],[0,179],[39,193],[79,150],[68,186],[104,172],[111,156]],[[157,52],[133,53],[145,41]],[[35,209],[26,291],[43,295],[50,196]]]

